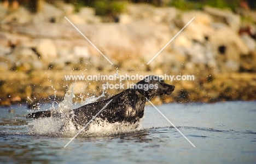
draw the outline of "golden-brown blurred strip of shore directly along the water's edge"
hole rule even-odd
[[[121,74],[135,75],[136,73],[121,71]],[[102,71],[33,71],[24,72],[5,72],[5,78],[1,77],[0,89],[6,93],[0,104],[9,106],[11,103],[37,104],[43,102],[60,102],[66,93],[73,88],[75,94],[74,101],[79,102],[81,98],[100,96],[103,91],[106,97],[115,95],[122,90],[106,89],[103,90],[102,84],[119,84],[115,81],[82,81],[66,80],[65,75],[112,75]],[[162,72],[144,72],[140,75],[162,75]],[[137,81],[125,80],[125,84],[136,83]],[[205,74],[195,75],[195,80],[176,80],[166,83],[176,86],[171,96],[160,96],[152,100],[155,104],[170,102],[217,102],[217,101],[252,101],[256,97],[256,74],[251,73],[232,73],[232,74]]]

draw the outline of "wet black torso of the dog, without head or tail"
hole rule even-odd
[[[135,123],[144,115],[146,99],[136,94],[136,90],[127,89],[104,101],[95,102],[74,109],[74,122],[85,125],[93,118],[109,101],[112,102],[98,115],[98,118],[113,122]]]

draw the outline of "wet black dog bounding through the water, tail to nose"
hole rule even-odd
[[[150,75],[133,85],[132,89],[126,89],[103,101],[73,109],[74,117],[72,121],[75,126],[83,127],[112,100],[97,117],[110,123],[124,121],[135,124],[143,117],[147,100],[159,95],[170,95],[173,90],[173,85],[168,85],[161,78]],[[28,114],[26,118],[38,119],[51,115],[54,114],[51,114],[51,111],[48,110]]]

